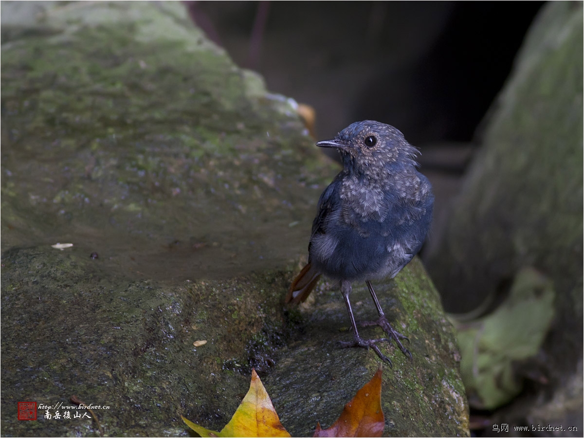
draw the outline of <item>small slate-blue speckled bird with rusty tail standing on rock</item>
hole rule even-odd
[[[371,280],[395,277],[420,251],[432,223],[434,195],[429,180],[418,171],[419,151],[397,128],[374,120],[352,123],[316,145],[338,150],[343,169],[321,194],[308,264],[290,284],[284,301],[305,301],[321,275],[339,281],[354,336],[340,346],[371,348],[391,366],[378,343],[393,339],[412,360],[401,342],[409,339],[392,328]],[[359,335],[349,299],[352,283],[359,281],[367,284],[379,316],[359,325],[379,325],[389,339]]]

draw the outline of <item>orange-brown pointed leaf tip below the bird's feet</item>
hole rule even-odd
[[[381,410],[381,368],[369,383],[357,391],[345,405],[338,420],[328,429],[317,424],[316,437],[328,436],[381,436],[385,419]]]

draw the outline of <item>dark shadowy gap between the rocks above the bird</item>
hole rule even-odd
[[[317,112],[329,138],[357,120],[415,145],[470,141],[543,2],[187,2],[267,88]]]

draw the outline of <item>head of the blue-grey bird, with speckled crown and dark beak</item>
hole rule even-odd
[[[319,141],[317,146],[336,148],[345,169],[350,172],[418,166],[415,161],[418,150],[405,140],[404,134],[393,126],[373,120],[352,123],[332,140]]]

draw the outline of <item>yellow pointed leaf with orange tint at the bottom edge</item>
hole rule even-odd
[[[282,423],[280,423],[280,418],[276,413],[276,409],[274,409],[274,405],[272,405],[272,400],[267,395],[266,388],[263,387],[262,381],[259,380],[255,370],[252,370],[252,382],[249,385],[248,393],[239,404],[230,422],[223,427],[221,432],[213,432],[213,430],[198,426],[184,417],[182,419],[187,426],[203,437],[290,436],[282,426]]]

